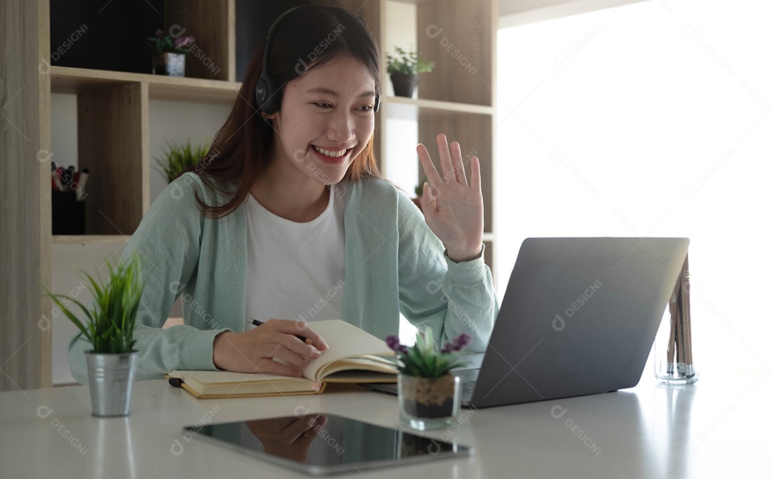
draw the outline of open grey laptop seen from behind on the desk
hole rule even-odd
[[[688,238],[527,238],[480,369],[455,371],[477,408],[635,386]],[[387,389],[387,388],[385,388]]]

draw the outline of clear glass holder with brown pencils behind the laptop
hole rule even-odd
[[[655,375],[662,383],[692,384],[699,379],[693,365],[691,336],[691,277],[688,256],[664,310],[655,341]]]

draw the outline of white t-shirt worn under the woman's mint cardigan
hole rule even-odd
[[[247,317],[342,319],[345,187],[332,185],[326,209],[307,223],[272,214],[251,194],[246,207]]]

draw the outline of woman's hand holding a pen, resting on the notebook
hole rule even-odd
[[[308,344],[297,336],[308,338]],[[236,373],[272,373],[301,376],[313,359],[328,349],[305,322],[271,319],[244,332],[221,332],[214,338],[214,366]],[[274,361],[283,360],[286,365]],[[288,365],[288,366],[287,366]]]

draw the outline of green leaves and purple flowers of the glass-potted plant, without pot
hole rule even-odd
[[[424,335],[418,333],[415,346],[400,344],[399,336],[388,336],[385,342],[402,363],[399,365],[399,373],[406,376],[437,378],[449,373],[450,369],[466,363],[456,353],[469,345],[471,336],[464,332],[453,339],[453,342],[448,342],[438,349],[436,342],[433,341],[431,328],[426,328]]]

